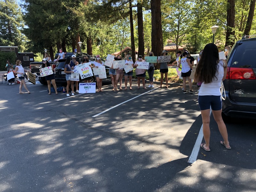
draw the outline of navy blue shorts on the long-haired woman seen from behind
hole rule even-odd
[[[198,96],[198,104],[200,107],[200,110],[206,110],[210,109],[210,106],[213,111],[218,111],[222,108],[222,100],[221,100],[221,95],[220,96],[215,96],[215,95],[204,95]]]

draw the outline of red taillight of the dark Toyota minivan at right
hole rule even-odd
[[[230,67],[227,71],[226,79],[256,79],[252,68]]]

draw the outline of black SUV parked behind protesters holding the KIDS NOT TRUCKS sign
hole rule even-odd
[[[78,61],[78,63],[81,63],[81,60],[84,57],[78,57],[76,58],[76,60]],[[93,61],[95,61],[96,57],[95,56],[88,56],[89,62],[93,63]],[[105,61],[103,59],[101,59],[102,61]],[[57,84],[66,84],[66,73],[64,73],[64,66],[65,66],[65,61],[66,59],[60,59],[56,68],[55,68],[55,82]],[[109,67],[105,66],[106,68],[106,74],[107,74],[107,78],[103,79],[103,81],[108,81],[111,80],[111,77],[109,76]],[[84,82],[81,77],[80,77],[80,81],[79,82]],[[91,82],[96,82],[96,78],[95,76],[91,76]]]

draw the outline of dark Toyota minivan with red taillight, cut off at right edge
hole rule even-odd
[[[226,116],[256,118],[255,53],[256,35],[243,36],[230,51],[223,81],[226,100],[222,101],[222,112]]]

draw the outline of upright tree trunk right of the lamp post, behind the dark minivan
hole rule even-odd
[[[227,8],[227,33],[226,33],[226,43],[227,45],[234,45],[235,36],[235,0],[228,0]]]

